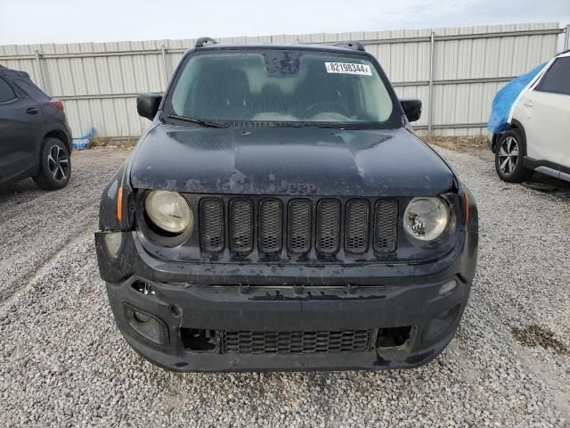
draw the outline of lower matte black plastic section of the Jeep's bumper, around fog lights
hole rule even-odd
[[[460,321],[470,286],[461,283],[439,295],[442,284],[410,287],[371,287],[346,291],[346,287],[266,289],[235,286],[189,286],[144,281],[151,292],[137,290],[141,278],[108,284],[107,292],[118,328],[126,341],[158,366],[181,371],[238,370],[341,370],[414,367],[435,358]],[[248,287],[250,288],[250,287]],[[149,289],[147,289],[148,291]],[[313,296],[313,297],[310,297]],[[131,308],[159,318],[167,327],[164,346],[147,340],[129,322]],[[457,307],[459,305],[459,307]],[[456,308],[443,329],[426,338],[428,325],[438,314]],[[409,339],[400,346],[362,352],[322,353],[222,353],[188,350],[183,329],[320,332],[411,326]],[[219,340],[219,338],[218,338]]]

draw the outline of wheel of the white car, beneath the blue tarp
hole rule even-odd
[[[501,180],[520,183],[533,175],[524,165],[525,142],[518,129],[509,129],[497,143],[495,150],[495,169]]]

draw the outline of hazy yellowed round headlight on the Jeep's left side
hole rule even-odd
[[[152,223],[172,234],[194,226],[194,215],[180,193],[153,190],[144,200],[144,210]]]

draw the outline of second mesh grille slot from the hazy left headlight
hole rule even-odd
[[[230,202],[230,250],[240,254],[253,251],[253,203],[248,199]]]

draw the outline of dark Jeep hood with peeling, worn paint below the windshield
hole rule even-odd
[[[407,129],[159,125],[137,146],[134,188],[186,193],[435,195],[451,169]]]

